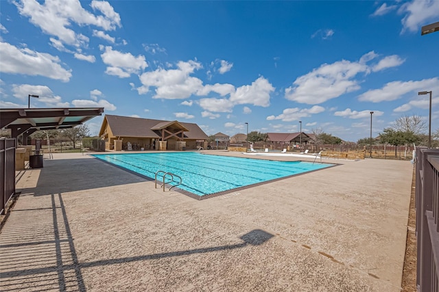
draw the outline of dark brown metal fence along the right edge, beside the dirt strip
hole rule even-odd
[[[439,150],[416,150],[416,238],[419,292],[439,291]]]

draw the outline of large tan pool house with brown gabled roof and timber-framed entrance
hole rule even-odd
[[[99,131],[106,150],[186,150],[205,147],[198,124],[106,115]]]

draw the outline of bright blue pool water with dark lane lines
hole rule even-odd
[[[333,166],[329,163],[273,161],[204,155],[200,152],[152,152],[93,156],[153,179],[158,170],[171,172],[182,178],[182,184],[178,188],[197,196],[216,194],[221,191],[229,191],[238,187]],[[157,177],[162,181],[163,176]]]

